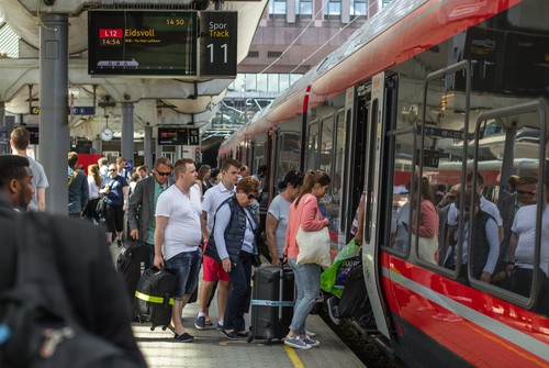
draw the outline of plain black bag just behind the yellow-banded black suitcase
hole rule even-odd
[[[121,248],[116,270],[122,274],[124,285],[134,300],[141,275],[148,268],[148,246],[139,241],[128,239]]]

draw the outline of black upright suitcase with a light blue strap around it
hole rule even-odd
[[[283,338],[293,317],[294,279],[290,268],[264,266],[256,268],[251,288],[251,321],[248,343]]]

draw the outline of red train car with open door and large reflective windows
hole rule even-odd
[[[220,148],[220,159],[267,164],[270,193],[290,169],[329,172],[334,248],[366,192],[376,339],[410,366],[549,366],[548,19],[546,0],[394,1]],[[459,208],[455,269],[422,256],[421,196],[393,246],[412,178],[464,183],[469,172],[502,188],[514,174],[538,178],[526,292],[473,276],[472,202]]]

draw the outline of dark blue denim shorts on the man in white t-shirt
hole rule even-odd
[[[201,264],[202,256],[198,250],[182,252],[166,260],[166,268],[177,276],[176,300],[192,294],[197,289]]]

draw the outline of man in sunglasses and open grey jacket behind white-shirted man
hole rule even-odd
[[[155,258],[155,209],[158,197],[173,183],[171,163],[168,157],[155,160],[153,176],[148,176],[135,186],[127,205],[130,237],[148,246],[148,266]]]

